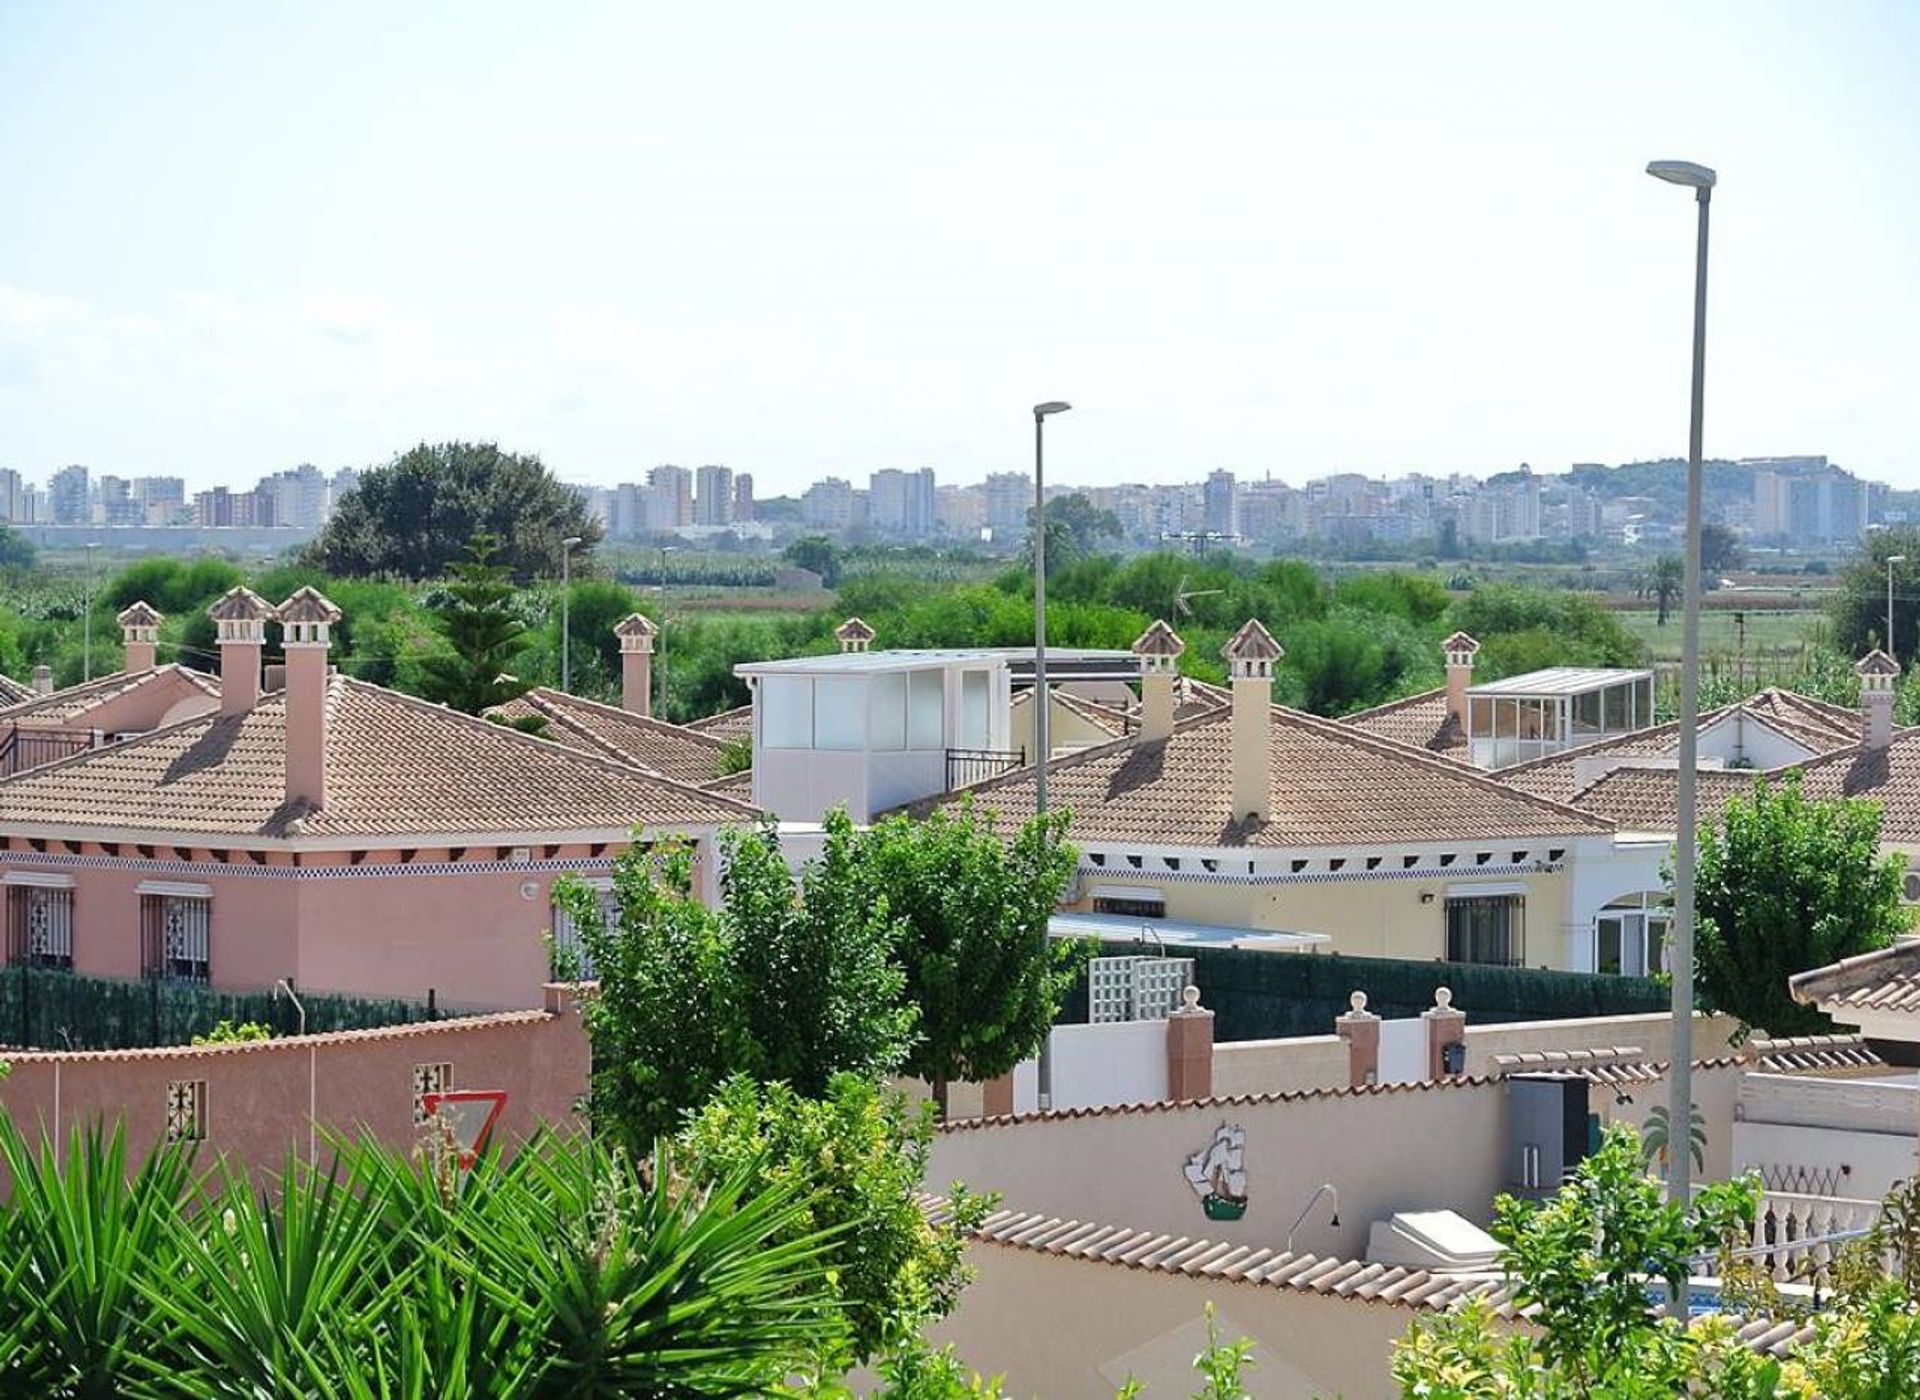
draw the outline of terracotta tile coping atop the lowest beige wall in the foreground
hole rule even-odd
[[[927,1198],[924,1206],[935,1221],[948,1219],[945,1202]],[[1292,1250],[1165,1235],[1020,1210],[993,1212],[973,1229],[972,1239],[977,1244],[1052,1254],[1108,1267],[1238,1283],[1254,1289],[1317,1292],[1329,1298],[1419,1312],[1446,1312],[1469,1298],[1480,1298],[1496,1317],[1511,1321],[1528,1314],[1515,1300],[1505,1277],[1496,1273],[1434,1273],[1400,1264],[1294,1254]],[[1784,1356],[1812,1337],[1812,1323],[1743,1321],[1736,1335],[1741,1344],[1757,1352]]]

